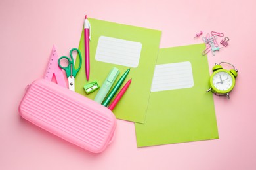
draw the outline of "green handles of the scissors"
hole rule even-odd
[[[74,58],[72,55],[73,51],[77,51],[77,54],[79,56],[79,67],[77,69],[75,69]],[[67,67],[62,67],[62,65],[60,64],[60,60],[64,59],[64,58],[68,60]],[[71,58],[71,60],[70,60],[70,58]],[[77,75],[77,72],[79,71],[79,69],[81,68],[81,65],[82,65],[81,52],[77,48],[72,48],[72,50],[70,50],[70,58],[68,58],[67,56],[62,56],[58,59],[58,66],[60,68],[64,69],[64,71],[66,71],[67,78],[71,76],[71,65],[72,65],[72,76],[74,76],[74,77]]]

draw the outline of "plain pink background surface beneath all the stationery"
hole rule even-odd
[[[0,1],[0,169],[256,169],[255,0]],[[162,30],[160,48],[201,43],[199,31],[223,32],[229,45],[208,56],[238,72],[226,97],[214,97],[220,139],[137,148],[135,126],[117,120],[116,139],[91,154],[18,115],[24,88],[43,77],[53,44],[77,47],[84,15]],[[202,89],[205,90],[205,89]]]

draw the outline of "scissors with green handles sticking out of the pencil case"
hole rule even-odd
[[[73,59],[73,55],[72,55],[72,52],[74,52],[74,51],[77,51],[77,54],[79,56],[79,67],[77,69],[75,69],[75,63],[74,63],[74,59]],[[71,60],[70,60],[70,58],[71,58]],[[79,71],[79,69],[81,68],[81,65],[82,65],[81,52],[77,48],[72,48],[70,50],[70,58],[68,58],[66,56],[60,57],[58,59],[58,66],[60,68],[64,69],[64,71],[66,71],[66,76],[68,78],[68,88],[75,92],[75,76],[77,75],[77,72]],[[62,67],[62,65],[60,64],[60,60],[62,60],[62,59],[68,60],[67,67]]]

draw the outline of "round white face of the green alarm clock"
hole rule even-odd
[[[213,76],[213,86],[217,90],[226,91],[231,88],[232,83],[232,77],[224,71],[220,71]]]

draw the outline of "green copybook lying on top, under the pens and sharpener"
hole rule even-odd
[[[117,82],[121,75],[131,68],[121,88],[132,78],[131,85],[117,103],[113,112],[116,118],[144,123],[161,31],[93,18],[88,20],[91,24],[91,41],[89,42],[90,76],[89,81],[87,81],[85,76],[84,33],[82,31],[79,50],[83,56],[83,61],[81,69],[75,77],[75,92],[94,99],[98,90],[87,95],[83,88],[85,84],[97,81],[98,85],[102,86],[113,67],[120,71],[116,78]],[[76,61],[75,68],[77,68],[77,64],[78,61]]]

